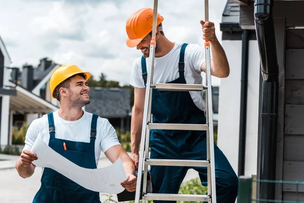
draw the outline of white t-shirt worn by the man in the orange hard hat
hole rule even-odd
[[[182,43],[175,43],[173,49],[162,57],[155,57],[153,83],[167,83],[179,78],[178,62]],[[202,84],[201,65],[205,62],[205,51],[198,44],[188,44],[184,55],[184,76],[187,84]],[[148,71],[148,58],[146,58]],[[147,73],[149,74],[149,73]],[[136,58],[130,77],[130,84],[137,88],[145,88],[141,71],[141,57]],[[202,111],[206,110],[203,91],[189,92],[194,104]]]

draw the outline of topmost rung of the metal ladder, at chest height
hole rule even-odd
[[[156,85],[151,85],[151,88],[155,88],[160,91],[202,91],[203,89],[207,89],[204,85],[170,83],[158,83]]]

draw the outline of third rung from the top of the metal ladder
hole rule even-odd
[[[209,161],[205,160],[180,160],[180,159],[147,159],[147,165],[166,165],[166,166],[200,166],[207,167]]]

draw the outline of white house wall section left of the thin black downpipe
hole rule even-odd
[[[222,41],[230,75],[220,80],[217,145],[238,172],[242,41]]]

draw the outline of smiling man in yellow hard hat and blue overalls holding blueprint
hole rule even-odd
[[[37,136],[42,136],[49,147],[85,168],[97,168],[101,150],[115,162],[121,158],[127,180],[122,186],[135,191],[136,177],[132,159],[117,139],[116,131],[107,119],[82,110],[90,103],[87,80],[91,74],[77,65],[61,65],[52,74],[50,89],[53,98],[60,101],[58,111],[34,120],[25,138],[25,147],[16,162],[22,178],[30,177],[35,170],[33,160],[39,157],[29,151]],[[33,202],[100,202],[99,192],[88,190],[65,176],[43,168],[41,188]]]

